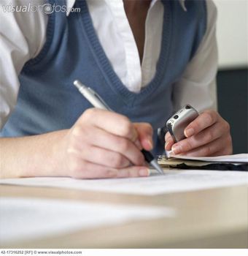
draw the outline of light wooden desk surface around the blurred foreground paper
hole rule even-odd
[[[46,197],[172,206],[177,218],[131,222],[47,237],[5,248],[248,248],[247,186],[137,196],[71,189],[0,186],[4,197]]]

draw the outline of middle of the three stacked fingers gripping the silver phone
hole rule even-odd
[[[206,128],[196,135],[186,138],[184,140],[175,143],[172,146],[173,154],[181,154],[187,151],[191,151],[194,148],[204,146],[217,138],[220,138],[225,132],[221,123],[215,123],[212,127]]]

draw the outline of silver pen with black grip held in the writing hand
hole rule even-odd
[[[88,101],[95,107],[95,108],[101,108],[104,110],[109,110],[114,112],[111,108],[109,108],[108,105],[104,102],[104,99],[102,99],[96,91],[93,91],[90,87],[84,86],[80,80],[74,80],[74,86],[77,87],[77,89],[80,91],[80,93],[88,99]],[[152,165],[152,167],[155,168],[155,170],[158,171],[158,173],[163,174],[163,170],[158,165],[158,162],[156,159],[152,156],[152,153],[150,151],[146,151],[142,149],[142,154],[144,155],[144,159],[146,159],[147,162]]]

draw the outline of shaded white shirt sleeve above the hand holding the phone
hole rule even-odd
[[[193,59],[187,64],[185,72],[174,84],[174,110],[186,104],[199,112],[206,109],[217,110],[217,8],[212,0],[206,1],[207,28]]]

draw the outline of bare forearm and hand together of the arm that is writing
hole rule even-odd
[[[148,176],[141,148],[152,149],[150,124],[133,124],[120,114],[89,108],[71,129],[0,138],[0,177]]]

